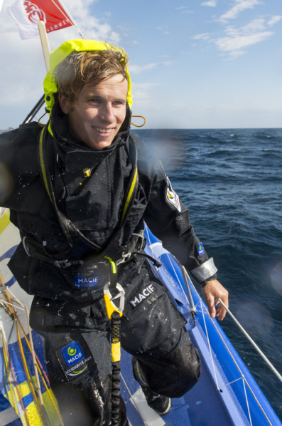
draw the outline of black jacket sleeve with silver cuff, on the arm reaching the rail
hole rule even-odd
[[[142,168],[144,164],[141,165]],[[188,209],[174,192],[160,162],[147,158],[146,177],[151,179],[144,219],[163,246],[205,285],[216,279],[215,265],[194,232]]]

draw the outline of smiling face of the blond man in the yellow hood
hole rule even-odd
[[[121,74],[99,83],[86,83],[70,103],[59,94],[60,107],[68,115],[70,132],[100,151],[112,144],[126,117],[127,81]]]

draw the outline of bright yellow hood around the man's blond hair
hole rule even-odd
[[[60,47],[56,48],[55,51],[50,53],[50,70],[45,76],[43,87],[45,93],[45,103],[47,104],[47,109],[51,113],[52,107],[55,103],[54,93],[57,92],[57,86],[55,83],[55,68],[60,62],[62,62],[66,56],[70,55],[73,51],[82,52],[82,51],[105,51],[107,50],[107,44],[102,41],[94,40],[69,40],[65,41]],[[129,84],[129,91],[127,93],[127,102],[129,108],[132,105],[132,95],[131,95],[131,79],[129,71],[126,67],[127,81]]]

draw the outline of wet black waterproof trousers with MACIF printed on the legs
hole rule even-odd
[[[179,398],[200,378],[185,319],[147,262],[126,291],[121,346],[136,356],[153,392]],[[104,300],[77,306],[35,297],[31,326],[44,337],[50,386],[67,426],[111,425],[110,323]],[[120,425],[128,426],[121,400]]]

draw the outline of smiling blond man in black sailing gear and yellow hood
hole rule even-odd
[[[9,267],[35,295],[31,326],[44,337],[65,425],[111,424],[104,289],[109,282],[115,288],[114,274],[125,291],[121,346],[133,355],[148,405],[165,415],[170,398],[197,383],[200,358],[143,253],[143,221],[200,282],[212,317],[224,318],[215,303],[220,296],[228,304],[228,293],[160,163],[129,133],[126,53],[73,40],[51,53],[50,63],[44,81],[48,125],[41,130],[31,123],[1,135],[13,187],[6,185],[1,204],[11,209],[22,237]],[[142,303],[132,303],[148,288]],[[119,417],[128,425],[122,400]]]

